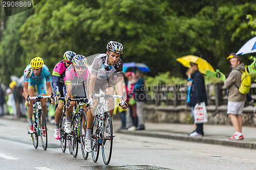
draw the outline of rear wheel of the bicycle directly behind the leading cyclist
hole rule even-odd
[[[74,115],[73,120],[72,120],[72,125],[71,125],[71,129],[72,129],[72,138],[71,138],[71,150],[72,150],[72,155],[74,158],[77,157],[77,152],[78,152],[78,126],[79,126],[79,118],[77,116],[77,114]]]

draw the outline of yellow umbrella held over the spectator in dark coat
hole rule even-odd
[[[193,55],[184,56],[184,57],[177,58],[177,61],[179,61],[182,65],[188,68],[190,68],[190,62],[197,64],[198,70],[202,74],[205,74],[206,70],[211,70],[215,72],[214,68],[212,68],[212,66],[206,60],[197,56],[193,56]]]

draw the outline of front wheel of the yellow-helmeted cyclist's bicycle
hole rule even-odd
[[[40,136],[41,136],[41,143],[42,143],[42,148],[44,148],[44,150],[47,149],[47,145],[48,145],[48,139],[47,139],[47,126],[46,126],[46,117],[44,112],[40,111],[38,113],[38,123],[40,126]]]

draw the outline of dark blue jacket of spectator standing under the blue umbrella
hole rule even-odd
[[[145,92],[145,82],[144,78],[140,78],[137,82],[134,83],[134,99],[139,102],[146,101],[146,92]]]

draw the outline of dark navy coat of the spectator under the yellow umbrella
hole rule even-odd
[[[203,75],[197,70],[191,74],[191,79],[193,79],[193,82],[190,90],[190,100],[187,105],[194,107],[197,103],[201,102],[205,102],[205,105],[207,105],[207,95]]]

